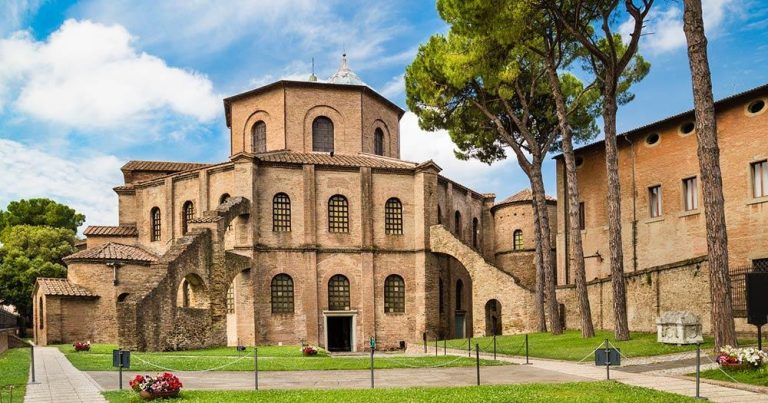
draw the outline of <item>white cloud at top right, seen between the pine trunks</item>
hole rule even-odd
[[[703,0],[704,29],[712,38],[720,32],[727,15],[737,11],[739,5],[734,0]],[[658,7],[658,6],[657,6]],[[632,32],[634,21],[630,18],[619,27],[625,39]],[[641,39],[642,50],[651,54],[662,54],[686,46],[683,32],[683,9],[679,4],[671,4],[666,9],[653,9],[647,17]]]

